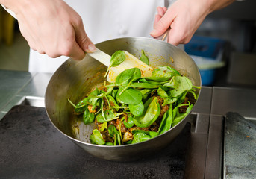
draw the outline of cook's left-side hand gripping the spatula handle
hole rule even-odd
[[[81,17],[62,0],[9,0],[28,45],[49,57],[61,55],[81,60],[84,51],[95,51]],[[5,5],[5,4],[4,4]]]

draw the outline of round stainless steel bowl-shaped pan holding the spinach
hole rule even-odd
[[[193,85],[201,86],[201,77],[196,63],[180,48],[169,43],[144,37],[127,37],[108,40],[96,44],[96,47],[110,55],[116,50],[125,50],[136,57],[140,57],[141,50],[144,50],[152,67],[172,66],[190,78]],[[102,84],[106,70],[107,66],[89,55],[81,61],[66,60],[57,69],[49,81],[45,96],[46,112],[57,130],[88,153],[106,160],[137,160],[169,145],[184,128],[188,117],[165,134],[146,142],[121,146],[90,144],[89,136],[94,125],[84,125],[75,119],[74,108],[67,99],[69,98],[75,104],[78,103],[90,90]],[[198,90],[197,93],[199,92]]]

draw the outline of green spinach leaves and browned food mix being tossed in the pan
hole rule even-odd
[[[116,51],[110,66],[125,60],[123,51]],[[149,63],[144,51],[140,57]],[[90,141],[96,145],[128,145],[143,142],[178,125],[193,108],[196,89],[189,78],[170,66],[158,66],[152,77],[141,77],[140,69],[121,72],[113,84],[96,88],[86,98],[73,104],[75,115],[84,125],[96,124]],[[187,94],[194,99],[190,101]]]

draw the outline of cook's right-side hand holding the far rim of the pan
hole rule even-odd
[[[157,7],[152,37],[160,37],[170,28],[168,43],[189,43],[207,14],[231,4],[234,0],[177,0],[167,10]]]

